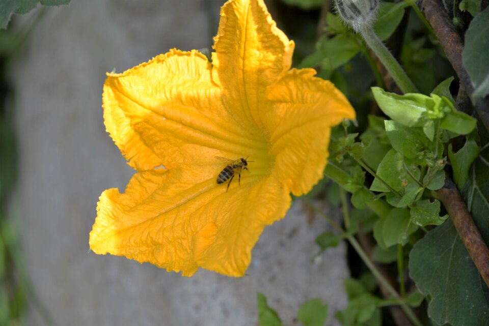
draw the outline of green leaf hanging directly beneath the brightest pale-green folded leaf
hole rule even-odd
[[[392,120],[385,122],[387,136],[392,147],[404,157],[414,159],[428,146],[428,139],[417,128],[408,128]]]

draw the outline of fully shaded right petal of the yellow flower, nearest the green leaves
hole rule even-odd
[[[355,111],[328,80],[314,69],[292,69],[267,88],[273,112],[263,112],[271,138],[275,167],[296,196],[308,193],[323,176],[331,127]]]

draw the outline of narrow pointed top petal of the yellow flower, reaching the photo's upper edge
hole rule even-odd
[[[226,107],[242,126],[263,132],[259,112],[268,106],[265,89],[290,69],[294,43],[277,28],[263,0],[228,1],[214,41],[212,64],[215,79],[226,86]]]

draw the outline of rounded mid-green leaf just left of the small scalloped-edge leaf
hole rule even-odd
[[[418,226],[411,223],[409,210],[392,209],[384,220],[382,237],[387,248],[408,242],[408,236],[414,233]]]

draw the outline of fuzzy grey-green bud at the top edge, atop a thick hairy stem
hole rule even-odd
[[[355,32],[371,28],[381,0],[335,0],[341,18],[351,25]]]

